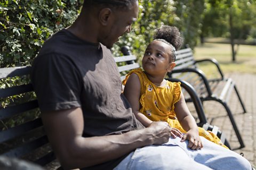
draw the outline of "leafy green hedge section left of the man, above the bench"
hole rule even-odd
[[[2,1],[0,66],[30,65],[44,41],[74,21],[81,4],[74,0]]]

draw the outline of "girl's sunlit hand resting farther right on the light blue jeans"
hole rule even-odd
[[[187,133],[183,134],[181,142],[189,140],[188,147],[193,150],[203,148],[203,143],[199,137],[198,130],[190,129]]]

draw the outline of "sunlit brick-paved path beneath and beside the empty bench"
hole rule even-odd
[[[247,113],[243,114],[234,90],[228,105],[245,144],[245,148],[234,151],[238,154],[243,152],[244,157],[256,166],[256,74],[230,73],[226,77],[230,77],[236,82],[238,92],[247,109]],[[189,107],[191,106],[189,105]],[[217,101],[205,101],[204,109],[208,121],[219,126],[220,130],[225,132],[231,148],[238,148],[239,142],[223,106]]]

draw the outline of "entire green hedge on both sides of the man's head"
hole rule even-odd
[[[82,0],[5,0],[0,2],[0,67],[30,65],[44,41],[74,22]],[[204,8],[203,0],[141,0],[138,22],[133,31],[114,46],[131,46],[142,56],[146,45],[161,24],[177,26],[185,43],[196,45]],[[118,55],[118,54],[116,54]]]

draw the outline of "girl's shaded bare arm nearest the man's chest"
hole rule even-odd
[[[140,113],[140,92],[140,79],[137,74],[132,73],[126,81],[124,87],[124,96],[131,104],[132,112],[135,114],[137,120],[140,121],[145,127],[148,127],[153,121],[149,120],[149,118]]]

